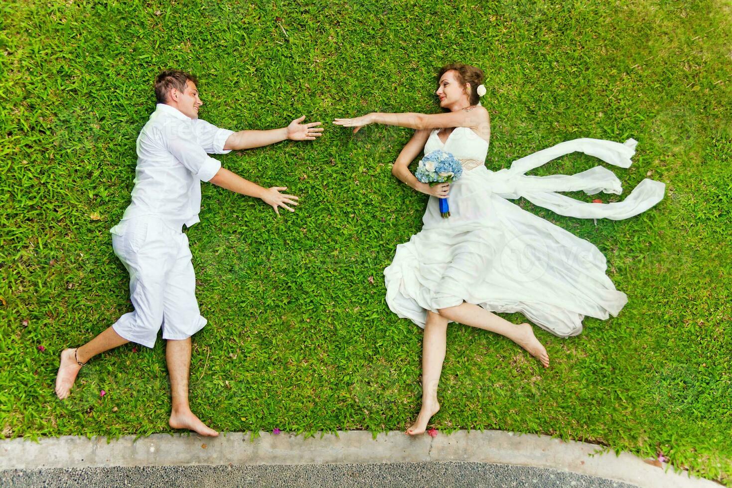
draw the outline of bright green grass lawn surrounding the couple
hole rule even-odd
[[[537,328],[548,370],[507,339],[451,326],[434,427],[661,452],[732,486],[729,1],[0,8],[2,437],[170,430],[162,341],[105,353],[70,399],[53,395],[60,350],[131,309],[108,229],[130,200],[159,70],[199,76],[204,119],[264,129],[300,115],[436,112],[436,70],[463,61],[487,75],[490,169],[572,138],[632,137],[634,165],[613,168],[626,191],[602,198],[624,198],[646,176],[667,194],[597,226],[519,200],[600,247],[630,301],[618,318],[585,320],[579,337]],[[194,338],[191,402],[212,427],[378,432],[414,420],[422,331],[389,312],[382,277],[425,209],[425,195],[390,173],[410,135],[370,126],[352,136],[328,123],[314,143],[220,157],[302,200],[276,218],[258,200],[203,186],[188,236],[209,325]],[[598,162],[574,154],[533,174]]]

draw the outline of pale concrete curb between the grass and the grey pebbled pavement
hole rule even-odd
[[[185,465],[313,465],[371,464],[390,462],[489,462],[567,470],[610,478],[649,488],[702,488],[719,485],[657,468],[633,454],[616,456],[602,446],[564,442],[546,435],[517,434],[498,430],[460,430],[410,438],[403,432],[379,434],[341,431],[337,434],[304,435],[229,432],[218,438],[195,434],[154,434],[119,440],[74,435],[0,440],[0,470],[39,468],[99,468],[108,466]]]

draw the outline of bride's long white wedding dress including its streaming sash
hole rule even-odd
[[[612,171],[597,166],[572,176],[524,174],[574,151],[628,168],[636,141],[569,140],[493,172],[485,167],[488,142],[472,129],[456,127],[445,143],[437,132],[427,139],[425,154],[452,153],[463,163],[463,176],[450,186],[451,217],[440,217],[438,199],[430,197],[422,230],[397,246],[384,270],[392,312],[423,328],[427,310],[467,301],[490,312],[521,312],[560,337],[580,334],[585,316],[617,315],[627,297],[605,275],[602,252],[507,198],[523,197],[571,217],[619,220],[640,214],[662,200],[664,184],[644,179],[622,202],[584,203],[555,192],[619,195]]]

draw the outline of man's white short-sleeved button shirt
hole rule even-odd
[[[110,232],[122,235],[125,222],[142,215],[156,215],[178,229],[199,222],[201,181],[221,168],[209,154],[228,153],[223,148],[233,133],[157,104],[138,135],[132,202]]]

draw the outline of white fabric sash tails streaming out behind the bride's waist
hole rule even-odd
[[[575,175],[526,176],[524,173],[575,151],[598,157],[611,165],[629,168],[632,164],[630,158],[635,154],[637,143],[635,139],[628,139],[623,144],[612,140],[590,138],[567,140],[516,159],[512,162],[511,168],[504,168],[491,174],[491,189],[503,198],[523,197],[534,205],[567,217],[627,219],[659,203],[663,199],[666,185],[646,178],[621,202],[588,203],[556,192],[582,190],[587,195],[597,192],[620,195],[623,189],[620,180],[612,171],[602,166],[595,166]]]

